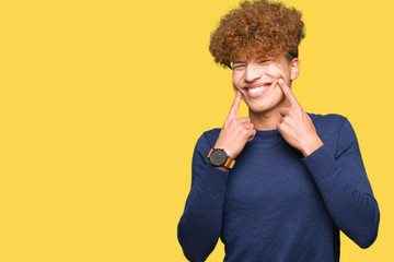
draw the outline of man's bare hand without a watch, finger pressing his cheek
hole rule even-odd
[[[290,107],[279,108],[282,119],[276,129],[291,146],[301,151],[304,156],[309,156],[321,147],[323,142],[318,138],[310,116],[302,109],[285,80],[280,79],[278,84],[290,102]]]

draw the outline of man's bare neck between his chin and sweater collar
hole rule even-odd
[[[254,129],[256,130],[274,130],[276,126],[282,119],[282,116],[279,112],[279,108],[281,107],[290,107],[289,102],[285,98],[277,107],[273,108],[268,111],[255,112],[248,109],[248,116],[251,118],[251,122],[254,124]]]

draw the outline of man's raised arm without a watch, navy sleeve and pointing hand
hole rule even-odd
[[[336,154],[318,138],[315,127],[285,81],[279,80],[290,108],[280,108],[277,129],[298,148],[336,226],[361,248],[378,236],[380,212],[362,163],[356,133],[344,118]]]

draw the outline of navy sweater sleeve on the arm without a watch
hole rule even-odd
[[[370,247],[378,236],[380,212],[348,119],[340,127],[335,156],[323,144],[302,160],[336,226],[359,247]]]

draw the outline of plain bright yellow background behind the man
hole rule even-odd
[[[296,97],[350,120],[381,210],[341,261],[393,261],[394,3],[285,2],[306,24]],[[2,1],[0,261],[186,261],[193,150],[233,99],[209,36],[236,3]]]

